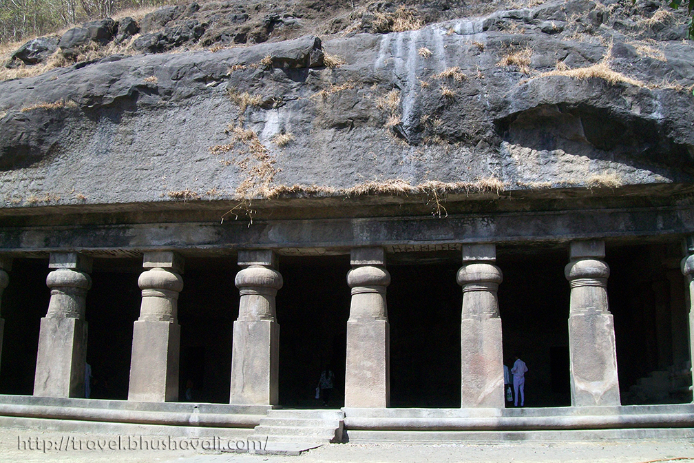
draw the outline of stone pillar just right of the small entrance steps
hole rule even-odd
[[[351,252],[347,284],[352,303],[347,321],[345,407],[384,408],[390,405],[390,331],[386,270],[381,247]]]

